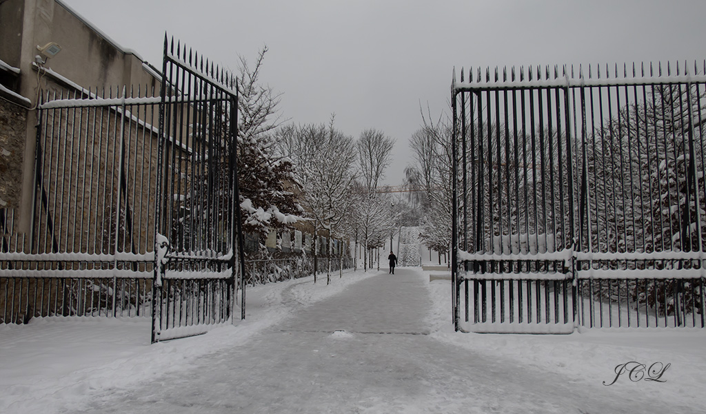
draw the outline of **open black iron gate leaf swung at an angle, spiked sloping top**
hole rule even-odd
[[[244,317],[245,298],[237,82],[166,37],[162,73],[152,342],[229,321],[238,288]]]

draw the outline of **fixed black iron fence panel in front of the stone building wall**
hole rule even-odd
[[[0,210],[1,322],[150,314],[152,92],[52,92],[37,109],[29,233]]]

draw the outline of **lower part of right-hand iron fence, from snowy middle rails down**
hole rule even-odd
[[[700,260],[670,258],[668,269],[655,269],[655,262],[664,267],[657,256],[649,265],[628,256],[623,262],[575,261],[563,272],[559,266],[549,267],[551,272],[520,272],[542,266],[528,261],[469,260],[469,271],[460,272],[455,286],[457,327],[544,334],[578,328],[706,328]],[[515,272],[501,272],[513,263]]]

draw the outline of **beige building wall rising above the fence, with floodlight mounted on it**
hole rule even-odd
[[[0,188],[4,188],[0,198],[16,210],[18,231],[26,232],[30,214],[23,212],[32,211],[38,90],[44,95],[112,87],[116,96],[123,85],[128,91],[139,85],[145,96],[158,94],[161,77],[154,66],[116,44],[60,0],[1,1],[0,39],[0,95],[5,98],[4,108],[16,106],[3,109],[3,114],[11,114],[13,124],[25,125],[0,124],[2,139],[15,144],[10,161],[0,159],[0,168],[13,171],[0,174]],[[49,42],[59,44],[61,51],[44,63],[37,61],[37,47]],[[18,111],[25,111],[25,116]]]

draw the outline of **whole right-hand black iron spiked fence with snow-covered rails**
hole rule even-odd
[[[457,329],[705,326],[705,71],[462,71]]]

